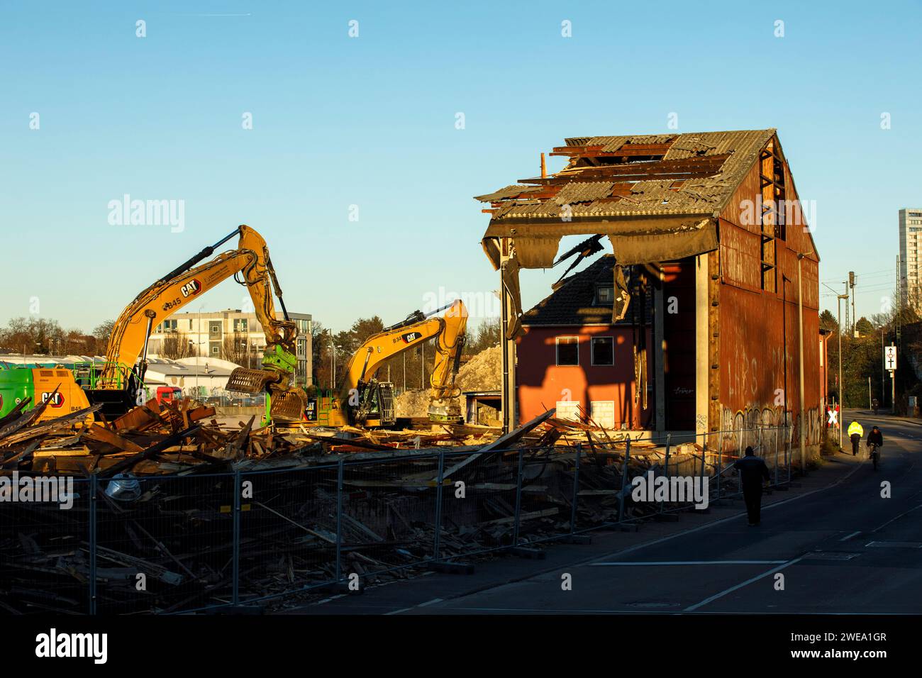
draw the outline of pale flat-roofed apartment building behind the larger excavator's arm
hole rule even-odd
[[[283,315],[277,312],[281,319]],[[295,380],[302,387],[313,384],[311,315],[289,313],[298,326]],[[241,309],[217,312],[177,313],[150,334],[148,356],[155,358],[207,357],[228,360],[242,367],[258,368],[266,348],[266,336],[256,314]],[[167,353],[167,354],[164,354]]]

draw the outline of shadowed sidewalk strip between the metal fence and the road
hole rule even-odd
[[[844,482],[862,463],[862,458],[851,454],[836,454],[823,458],[823,465],[810,471],[806,478],[792,478],[792,486],[786,491],[770,491],[762,498],[762,511],[769,516],[774,506],[820,492]],[[486,561],[478,561],[472,575],[449,575],[424,573],[419,577],[389,582],[382,586],[370,586],[361,595],[342,594],[316,603],[282,611],[287,614],[392,614],[407,612],[437,601],[446,601],[471,595],[482,590],[513,584],[531,577],[559,571],[561,567],[572,567],[600,559],[612,558],[630,553],[644,546],[668,541],[681,534],[706,529],[720,522],[746,520],[746,511],[741,498],[721,499],[712,503],[706,511],[689,510],[677,514],[677,522],[644,522],[626,525],[623,530],[599,529],[585,534],[592,542],[574,545],[550,541],[538,547],[546,554],[545,559],[522,558],[502,554]]]

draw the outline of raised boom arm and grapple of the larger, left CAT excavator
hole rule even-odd
[[[236,249],[199,265],[238,234],[240,241]],[[256,318],[266,333],[266,350],[262,370],[235,369],[227,388],[253,394],[266,391],[268,420],[301,420],[307,396],[293,384],[298,329],[290,320],[282,300],[266,241],[245,225],[172,269],[125,307],[112,328],[102,371],[86,389],[89,401],[101,403],[102,412],[107,417],[118,416],[135,405],[143,404],[145,396],[141,385],[147,369],[151,330],[195,297],[231,277],[250,292]],[[278,296],[284,320],[276,318],[273,290]]]

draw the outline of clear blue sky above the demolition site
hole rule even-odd
[[[0,324],[38,297],[89,330],[238,223],[266,237],[289,309],[328,327],[396,321],[440,287],[489,295],[471,196],[534,176],[563,137],[663,132],[672,112],[680,132],[778,128],[817,201],[821,280],[855,270],[870,315],[897,210],[922,207],[920,18],[899,1],[2,2]],[[111,225],[124,194],[184,200],[183,232]],[[526,271],[526,305],[558,275]]]

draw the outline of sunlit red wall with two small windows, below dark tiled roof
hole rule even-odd
[[[579,365],[557,365],[556,338],[579,339]],[[591,363],[590,339],[614,337],[615,364]],[[633,404],[633,330],[631,327],[526,327],[525,336],[517,339],[519,421],[527,422],[558,400],[578,400],[586,412],[591,401],[611,400],[615,404],[615,427],[627,423],[631,429],[643,429],[650,422],[654,402],[652,388],[647,394],[647,409]],[[647,330],[647,346],[652,337]],[[649,383],[653,380],[653,363],[648,358]]]

